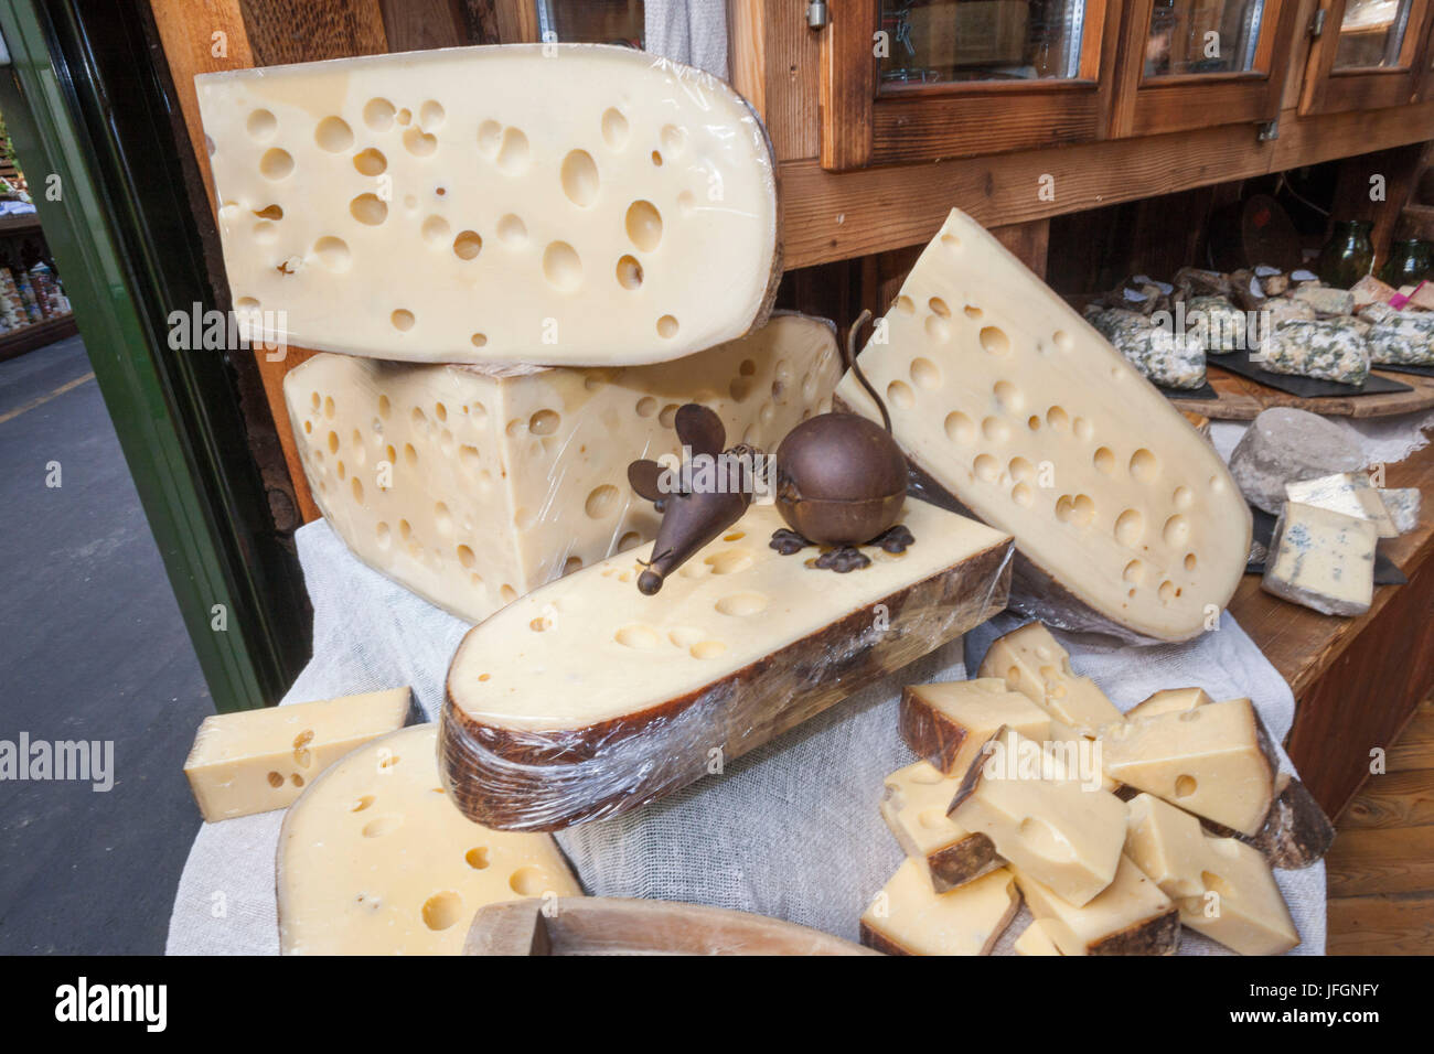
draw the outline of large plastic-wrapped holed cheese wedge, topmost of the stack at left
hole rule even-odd
[[[268,341],[617,366],[740,337],[770,308],[770,145],[700,70],[512,44],[195,85],[229,290]]]

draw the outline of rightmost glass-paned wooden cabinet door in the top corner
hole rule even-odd
[[[1321,0],[1301,113],[1404,106],[1430,76],[1430,0]]]

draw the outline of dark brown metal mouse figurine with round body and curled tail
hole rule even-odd
[[[773,533],[771,548],[790,555],[823,546],[812,565],[840,574],[870,564],[859,545],[901,552],[915,541],[896,526],[906,499],[906,456],[892,439],[885,403],[856,364],[856,336],[868,318],[870,311],[863,311],[847,334],[846,366],[880,409],[885,427],[855,413],[822,413],[787,433],[776,455],[776,506],[790,531]],[[628,466],[632,489],[663,513],[652,559],[637,584],[647,595],[741,519],[753,499],[746,473],[761,455],[750,446],[723,450],[727,432],[706,406],[687,403],[674,424],[691,460],[677,470],[654,460]]]

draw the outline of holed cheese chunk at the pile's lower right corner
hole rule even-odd
[[[1213,837],[1189,813],[1150,794],[1130,800],[1126,852],[1180,906],[1180,921],[1240,955],[1299,944],[1295,921],[1260,852]]]

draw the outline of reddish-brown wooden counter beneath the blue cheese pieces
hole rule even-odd
[[[1289,681],[1295,726],[1285,741],[1301,779],[1332,817],[1434,691],[1434,445],[1385,470],[1385,486],[1423,492],[1415,531],[1381,542],[1410,581],[1375,589],[1358,618],[1286,604],[1245,575],[1229,611]]]

